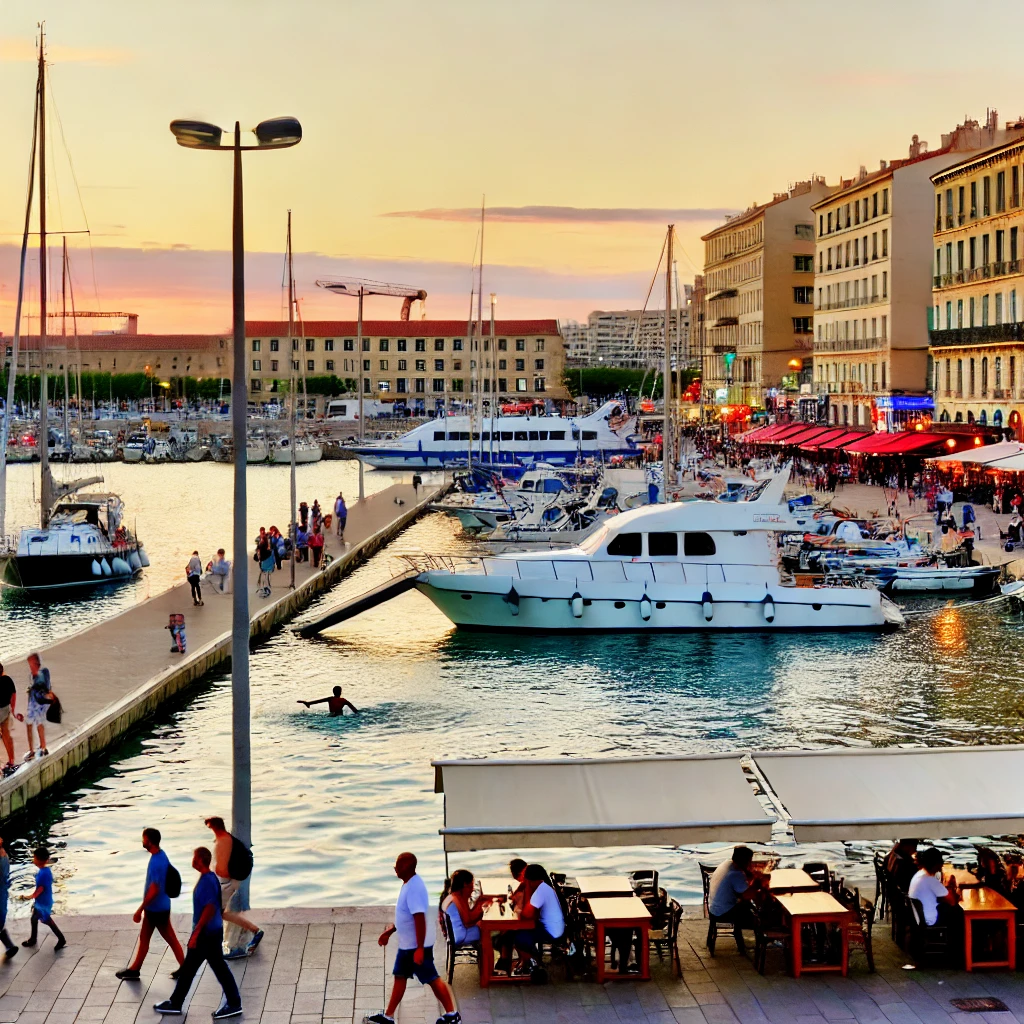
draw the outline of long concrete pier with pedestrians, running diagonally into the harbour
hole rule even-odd
[[[325,535],[324,550],[332,557],[331,563],[315,571],[309,562],[298,563],[292,590],[290,563],[285,562],[271,578],[268,598],[256,593],[259,567],[252,561],[253,546],[246,561],[252,641],[260,642],[295,617],[317,595],[391,541],[444,489],[416,489],[399,483],[352,502],[345,544],[339,542],[333,527]],[[186,560],[182,555],[182,565]],[[152,716],[166,700],[230,659],[230,594],[219,593],[204,582],[203,598],[204,605],[194,607],[188,584],[182,582],[39,651],[63,706],[63,721],[46,726],[48,756],[22,765],[0,780],[0,818],[20,811]],[[183,655],[171,652],[166,627],[172,612],[185,616],[187,651]],[[29,653],[12,656],[5,652],[3,657],[5,670],[18,688],[19,712],[25,710],[29,671],[25,658]],[[18,722],[11,724],[20,758],[26,750],[25,729]]]

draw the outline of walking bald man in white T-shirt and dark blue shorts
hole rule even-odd
[[[392,935],[398,937],[398,954],[394,959],[394,984],[387,1009],[379,1014],[364,1017],[364,1024],[394,1024],[409,979],[416,977],[421,984],[429,985],[444,1013],[437,1024],[460,1024],[462,1015],[455,1009],[452,992],[434,967],[434,912],[423,879],[416,873],[416,855],[399,853],[394,863],[394,873],[401,879],[401,891],[394,907],[394,924],[381,932],[377,944],[386,946]]]

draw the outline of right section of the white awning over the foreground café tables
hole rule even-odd
[[[1024,746],[754,755],[798,843],[1024,831]]]

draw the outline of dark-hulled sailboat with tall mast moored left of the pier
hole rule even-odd
[[[36,121],[33,126],[32,168],[22,244],[22,269],[18,281],[17,311],[11,353],[8,398],[0,429],[0,587],[30,592],[57,592],[95,587],[130,580],[150,564],[141,543],[124,522],[121,499],[105,492],[83,493],[102,477],[93,476],[69,483],[57,483],[50,472],[48,394],[46,374],[46,62],[44,34],[39,31],[39,71],[36,80]],[[35,179],[36,143],[39,145],[39,462],[40,523],[27,526],[16,538],[4,539],[6,504],[7,432],[25,293],[26,250],[32,210],[32,185]]]

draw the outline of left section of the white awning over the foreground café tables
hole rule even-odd
[[[447,851],[766,843],[775,821],[738,754],[433,765]]]

